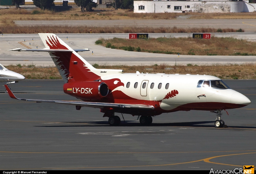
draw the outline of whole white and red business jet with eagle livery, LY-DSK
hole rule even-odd
[[[51,101],[18,99],[6,85],[10,97],[18,100],[50,102],[100,108],[110,125],[119,125],[115,113],[138,115],[142,125],[162,113],[203,110],[217,113],[215,127],[224,127],[222,110],[246,106],[251,101],[230,89],[221,79],[210,75],[123,73],[123,70],[95,69],[55,34],[39,33],[46,48],[14,49],[49,52],[66,82],[63,91],[81,99]]]

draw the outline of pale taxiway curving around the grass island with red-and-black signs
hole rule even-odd
[[[214,33],[216,37],[235,37],[256,41],[254,32],[243,33]],[[73,49],[89,48],[90,51],[79,52],[89,63],[104,65],[153,65],[170,64],[174,65],[188,63],[205,64],[241,64],[254,63],[255,56],[191,56],[191,55],[166,55],[145,52],[133,52],[124,50],[113,50],[100,45],[95,45],[99,38],[128,38],[128,34],[57,34],[64,42]],[[150,37],[164,37],[166,33],[150,34]],[[175,33],[174,37],[192,37],[191,33]],[[67,39],[68,38],[68,39]],[[33,39],[33,41],[32,41]],[[24,42],[25,40],[25,42]],[[54,62],[46,52],[17,52],[7,51],[14,48],[44,48],[38,34],[5,34],[0,40],[0,62],[1,64],[34,64],[36,66],[54,66]],[[92,54],[93,52],[93,54]]]

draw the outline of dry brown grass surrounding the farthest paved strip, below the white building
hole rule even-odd
[[[53,32],[53,33],[89,33],[89,29],[93,29],[94,33],[129,33],[129,32],[149,32],[149,33],[164,33],[164,32],[216,32],[212,28],[134,28],[134,27],[67,27],[67,26],[16,26],[14,20],[99,20],[99,19],[176,19],[177,16],[189,15],[190,18],[210,19],[210,18],[256,18],[255,13],[133,13],[129,10],[113,10],[95,9],[94,12],[82,13],[80,8],[73,8],[62,12],[53,12],[49,10],[35,9],[38,14],[33,11],[29,12],[26,9],[1,9],[0,10],[0,32],[12,34],[29,34],[38,32]],[[223,32],[235,32],[235,29],[222,29]]]

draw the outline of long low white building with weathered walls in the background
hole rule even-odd
[[[256,4],[249,1],[134,1],[134,13],[228,13],[254,12]]]

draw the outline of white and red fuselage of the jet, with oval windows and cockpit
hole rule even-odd
[[[124,73],[103,76],[100,81],[108,85],[110,93],[96,102],[144,104],[155,108],[154,111],[127,109],[126,113],[132,115],[141,112],[159,115],[175,111],[215,111],[251,103],[246,96],[210,75]],[[86,89],[86,86],[81,88]],[[123,110],[120,112],[124,113]]]

